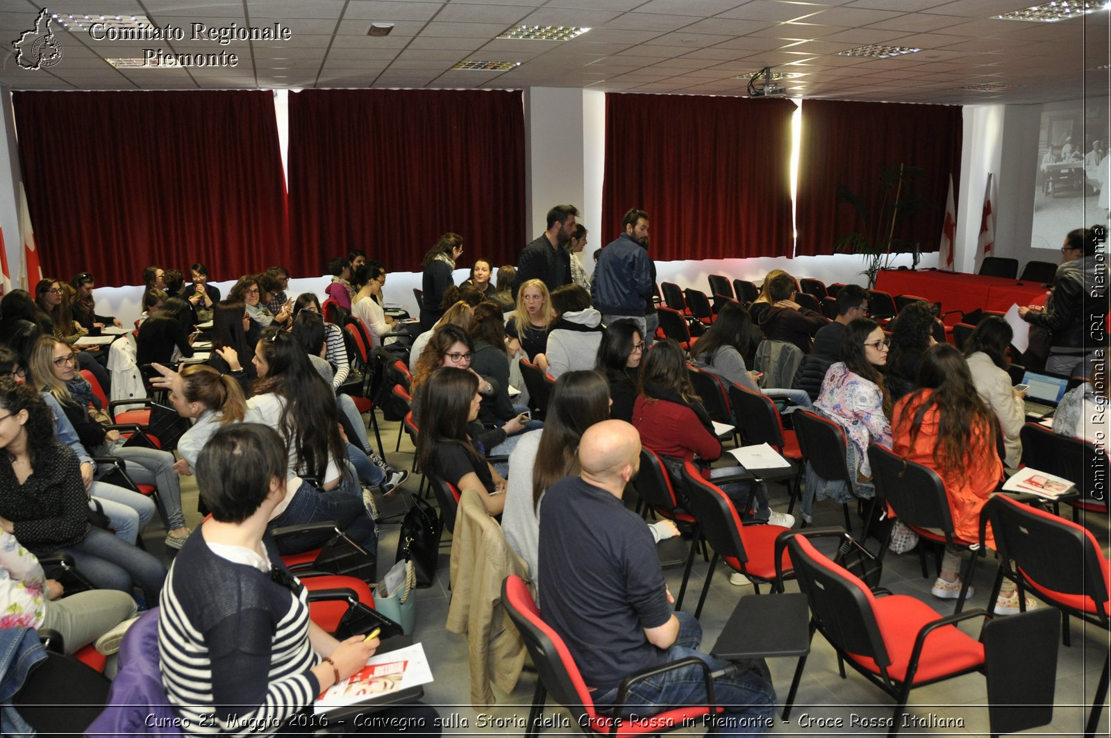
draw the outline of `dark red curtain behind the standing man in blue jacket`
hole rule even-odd
[[[629,208],[651,219],[652,257],[791,255],[790,100],[605,96],[602,236]]]

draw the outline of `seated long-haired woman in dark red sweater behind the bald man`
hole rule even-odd
[[[640,432],[644,447],[662,458],[672,479],[678,480],[682,465],[694,461],[695,457],[707,463],[721,458],[721,441],[691,387],[683,350],[672,339],[657,341],[648,352],[640,372],[640,396],[633,406],[632,425]],[[707,479],[743,472],[743,467],[738,466],[703,470]],[[743,513],[750,485],[727,482],[721,485],[721,490],[741,506],[739,511]],[[794,525],[793,517],[775,512],[768,506],[768,490],[763,485],[757,486],[755,506],[755,520],[784,528]]]

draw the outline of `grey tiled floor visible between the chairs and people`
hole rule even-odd
[[[383,442],[392,448],[396,439],[393,423],[383,427]],[[408,466],[412,458],[412,446],[408,439],[402,439],[401,452],[389,455],[398,466]],[[419,477],[413,477],[406,486],[407,493],[416,493]],[[778,496],[777,496],[778,492]],[[183,497],[186,510],[193,511],[189,516],[190,525],[196,525],[196,486],[187,481]],[[382,515],[403,512],[408,500],[399,498],[388,501]],[[772,506],[785,510],[785,493],[781,488],[772,488]],[[843,525],[840,506],[832,502],[819,503],[815,510],[815,525]],[[1090,516],[1085,523],[1101,541],[1104,551],[1108,550],[1109,526],[1105,519]],[[854,518],[853,525],[859,525]],[[162,533],[164,535],[164,533]],[[436,680],[426,687],[424,699],[436,705],[446,720],[444,734],[483,734],[483,735],[523,735],[523,724],[527,721],[532,690],[536,686],[536,672],[527,668],[518,681],[517,688],[510,695],[498,692],[498,704],[489,708],[474,708],[470,704],[470,668],[466,637],[444,629],[448,612],[448,560],[450,537],[441,549],[440,566],[436,584],[428,589],[419,590],[417,599],[417,628],[414,637],[424,645],[426,652],[432,664]],[[157,535],[156,526],[148,528],[146,536],[148,548],[161,551],[161,536]],[[384,525],[381,528],[379,545],[379,574],[384,572],[387,564],[392,561],[397,549],[398,526]],[[872,541],[874,547],[874,541]],[[881,585],[895,594],[913,595],[929,602],[942,614],[952,612],[952,601],[938,600],[930,595],[931,578],[923,579],[918,555],[889,555],[884,560]],[[698,602],[698,594],[705,581],[709,565],[699,558],[693,568],[688,586],[688,598],[683,609],[693,611]],[[682,567],[671,566],[664,569],[672,592],[679,591],[682,581]],[[988,594],[991,590],[995,568],[989,560],[987,566],[979,566],[973,577],[975,594],[969,599],[968,608],[987,607]],[[797,591],[797,585],[789,584],[788,591]],[[763,588],[767,592],[767,589]],[[729,615],[740,597],[753,596],[752,587],[734,587],[729,584],[728,567],[719,564],[710,586],[710,591],[702,611],[701,624],[704,631],[703,645],[708,648],[717,639]],[[972,635],[979,634],[980,620],[964,622],[961,627]],[[1083,734],[1084,721],[1089,706],[1094,697],[1097,682],[1104,659],[1109,651],[1108,631],[1084,626],[1075,619],[1070,619],[1072,646],[1061,647],[1057,669],[1057,694],[1052,722],[1042,728],[1029,731],[1041,736],[1080,736]],[[754,637],[759,637],[757,634]],[[867,721],[887,720],[893,711],[893,700],[879,689],[868,684],[863,677],[848,669],[848,678],[838,675],[837,658],[832,648],[821,635],[815,635],[805,671],[795,699],[795,706],[790,720],[782,720],[782,700],[787,698],[791,678],[794,674],[795,659],[771,659],[769,668],[772,681],[780,700],[779,718],[771,732],[778,735],[820,736],[832,734],[885,735],[887,728],[865,727]],[[919,720],[918,725],[903,727],[902,735],[959,735],[987,736],[988,710],[987,687],[984,677],[971,674],[951,679],[938,685],[922,687],[911,692],[908,712]],[[1108,735],[1108,714],[1104,707],[1098,735]],[[546,715],[567,716],[567,711],[554,705],[549,705]],[[862,725],[864,721],[865,725]],[[953,727],[945,727],[951,725]],[[544,732],[572,734],[573,724],[564,728],[546,728]],[[690,730],[698,734],[700,730]]]

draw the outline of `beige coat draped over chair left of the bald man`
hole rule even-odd
[[[471,702],[494,704],[498,689],[512,692],[524,666],[524,641],[501,604],[501,582],[511,574],[526,580],[529,568],[506,542],[498,521],[486,511],[483,492],[464,489],[451,540],[451,606],[447,628],[467,634],[471,664]]]

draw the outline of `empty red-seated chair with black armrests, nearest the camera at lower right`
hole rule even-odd
[[[815,529],[814,532],[820,532]],[[843,531],[842,531],[843,532]],[[942,617],[908,595],[878,597],[858,577],[831,561],[797,532],[787,541],[799,587],[810,602],[811,634],[817,628],[843,661],[895,698],[891,731],[902,724],[910,690],[984,668],[984,646],[954,622],[983,617],[968,610]],[[807,657],[799,659],[783,707],[787,720]]]

